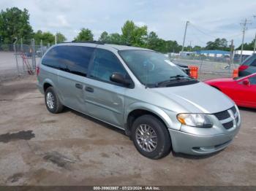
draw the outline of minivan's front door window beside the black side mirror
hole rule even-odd
[[[116,55],[113,52],[103,49],[97,49],[95,52],[94,61],[91,66],[90,76],[110,82],[110,76],[114,72],[127,75],[127,71],[121,65]]]

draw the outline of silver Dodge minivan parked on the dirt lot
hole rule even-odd
[[[151,159],[173,152],[206,155],[238,133],[238,107],[153,50],[63,43],[45,52],[38,87],[49,112],[67,106],[125,131]]]

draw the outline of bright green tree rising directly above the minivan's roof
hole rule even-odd
[[[148,28],[147,26],[136,26],[132,20],[127,20],[121,28],[121,39],[125,44],[135,47],[145,47]]]

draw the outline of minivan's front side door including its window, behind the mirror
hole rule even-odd
[[[113,72],[128,77],[116,55],[109,50],[96,49],[86,85],[86,108],[92,117],[121,127],[124,113],[124,94],[127,87],[110,81]]]

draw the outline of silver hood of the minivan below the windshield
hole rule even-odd
[[[214,114],[230,109],[234,105],[227,95],[203,82],[193,85],[152,88],[151,90],[192,113]]]

